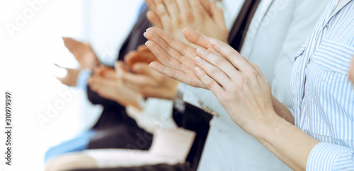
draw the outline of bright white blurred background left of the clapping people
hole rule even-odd
[[[103,61],[115,61],[142,2],[0,0],[0,94],[13,93],[12,165],[5,165],[2,153],[0,170],[44,170],[43,157],[50,146],[96,122],[101,107],[91,105],[78,88],[55,78],[66,73],[54,64],[77,66],[62,37],[90,42]],[[0,97],[1,111],[4,100]],[[1,113],[0,130],[4,130]],[[1,134],[0,152],[5,151],[5,138]]]

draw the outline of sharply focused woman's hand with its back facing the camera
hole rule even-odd
[[[256,64],[219,40],[210,40],[217,54],[197,49],[195,73],[214,93],[233,121],[255,135],[257,124],[278,117],[270,84]]]

